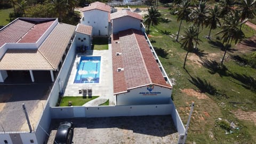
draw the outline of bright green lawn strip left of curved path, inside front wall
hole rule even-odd
[[[84,103],[98,98],[99,96],[88,97],[63,97],[60,103],[60,107],[67,107],[68,102],[72,101],[73,106],[83,106]]]

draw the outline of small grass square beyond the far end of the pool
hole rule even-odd
[[[92,50],[108,50],[108,38],[93,38]]]

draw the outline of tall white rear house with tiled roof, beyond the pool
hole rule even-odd
[[[92,35],[108,37],[110,26],[110,6],[101,2],[91,3],[82,10],[84,18],[83,25],[92,26]]]

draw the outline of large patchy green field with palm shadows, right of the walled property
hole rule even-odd
[[[159,9],[159,11],[169,22],[151,26],[149,38],[154,42],[152,44],[156,47],[158,58],[167,75],[169,78],[175,78],[176,84],[173,86],[172,97],[184,124],[188,118],[189,103],[195,102],[186,142],[255,143],[253,131],[255,126],[250,127],[253,125],[251,121],[249,123],[238,119],[231,111],[237,109],[256,111],[254,89],[256,69],[238,65],[230,56],[226,56],[224,66],[219,65],[224,53],[219,39],[222,35],[215,34],[221,30],[220,28],[212,30],[211,41],[205,38],[209,34],[209,28],[200,29],[198,38],[203,42],[198,45],[197,53],[188,54],[186,69],[183,69],[186,51],[180,47],[180,43],[175,42],[175,37],[172,36],[179,29],[177,17],[171,15],[168,9]],[[180,35],[184,35],[183,30],[190,25],[191,23],[182,22]],[[255,31],[246,25],[243,25],[242,30],[247,38],[255,34]],[[236,55],[239,54],[239,50],[232,43],[227,53]],[[182,92],[183,89],[205,94],[207,99],[193,97]],[[239,130],[225,134],[228,124],[221,123],[220,126],[216,126],[215,119],[218,118],[236,123]]]

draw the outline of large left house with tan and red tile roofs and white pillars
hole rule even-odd
[[[19,72],[35,82],[37,71],[54,82],[75,28],[53,18],[18,18],[0,29],[0,82]]]

